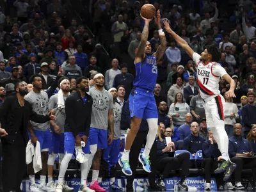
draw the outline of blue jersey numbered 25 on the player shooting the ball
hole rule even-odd
[[[136,77],[133,85],[153,92],[157,79],[156,57],[146,56],[141,62],[135,63],[135,68]]]

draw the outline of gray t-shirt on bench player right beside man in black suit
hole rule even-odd
[[[24,97],[31,104],[33,111],[38,115],[47,115],[49,112],[49,100],[48,95],[45,92],[35,93],[33,91],[29,92],[28,95]],[[47,131],[50,128],[50,122],[45,122],[44,124],[38,124],[30,121],[33,129],[37,131]]]

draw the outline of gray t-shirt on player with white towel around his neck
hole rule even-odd
[[[64,103],[66,102],[66,99],[68,95],[63,95],[64,97]],[[57,102],[58,102],[58,93],[56,95],[53,95],[49,100],[49,110],[54,109],[56,121],[55,123],[61,128],[61,132],[64,132],[64,125],[66,120],[66,111],[65,108],[58,109],[57,108]]]

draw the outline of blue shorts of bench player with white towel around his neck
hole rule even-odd
[[[54,154],[64,154],[64,133],[57,134],[52,132],[52,146],[49,150],[49,154],[54,152]]]

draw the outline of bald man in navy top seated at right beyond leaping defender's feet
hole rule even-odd
[[[237,169],[240,170],[239,173],[236,173],[235,176],[235,187],[236,189],[244,189],[241,184],[241,170],[243,169],[252,169],[252,173],[256,172],[256,157],[254,158],[243,158],[243,157],[251,157],[252,156],[252,146],[250,142],[244,139],[241,136],[242,133],[242,125],[235,124],[234,125],[234,136],[229,138],[228,142],[228,154],[231,158],[230,161],[236,163],[236,172]]]

